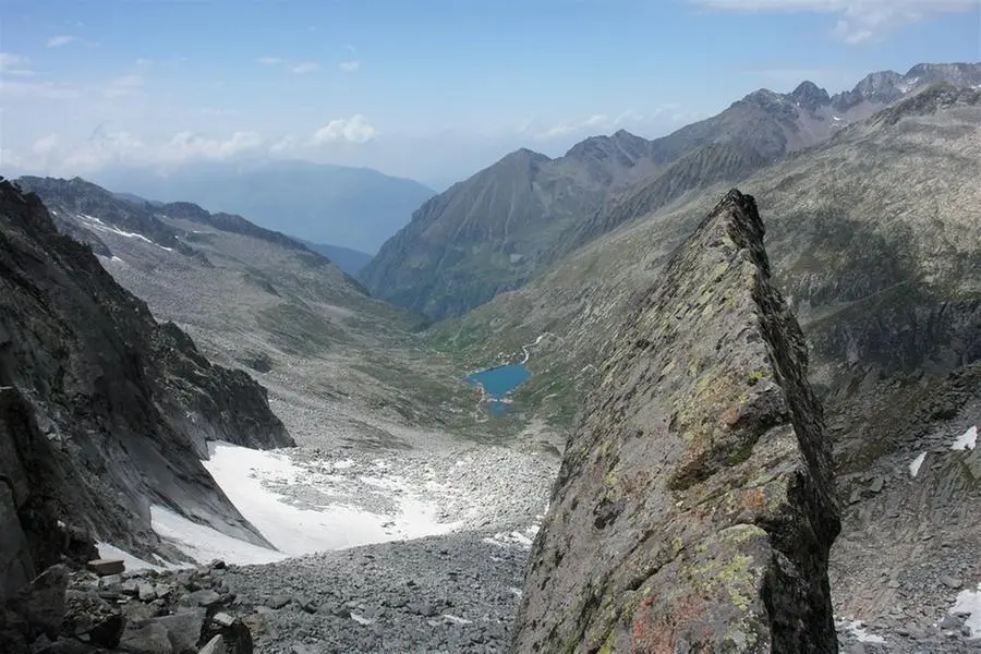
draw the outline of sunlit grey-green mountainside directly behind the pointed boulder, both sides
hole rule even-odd
[[[828,398],[981,359],[979,96],[932,87],[740,182],[767,216],[774,276]],[[632,217],[526,287],[438,325],[433,342],[476,364],[553,334],[532,350],[534,376],[516,399],[530,416],[568,424],[640,289],[725,190]],[[856,402],[835,408],[859,420],[851,413],[879,400]]]

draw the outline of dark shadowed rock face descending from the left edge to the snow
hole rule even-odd
[[[100,540],[168,553],[150,506],[257,544],[201,464],[205,438],[293,444],[266,391],[159,325],[33,193],[0,180],[0,590]],[[10,528],[10,529],[8,529]],[[20,535],[19,535],[20,534]]]

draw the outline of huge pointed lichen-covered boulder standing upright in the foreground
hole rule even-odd
[[[725,197],[611,344],[514,651],[836,652],[831,444],[752,197]]]

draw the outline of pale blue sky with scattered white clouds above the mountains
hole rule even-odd
[[[761,87],[981,61],[981,0],[3,0],[0,174],[305,159],[445,185]]]

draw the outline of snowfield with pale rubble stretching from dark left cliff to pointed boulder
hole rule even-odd
[[[204,467],[276,549],[153,507],[154,531],[198,562],[267,564],[474,529],[500,530],[498,544],[526,549],[537,525],[520,525],[541,520],[552,474],[548,464],[529,471],[526,456],[493,447],[331,457],[302,447],[254,450],[214,441],[208,453]],[[506,481],[491,479],[488,469]]]

